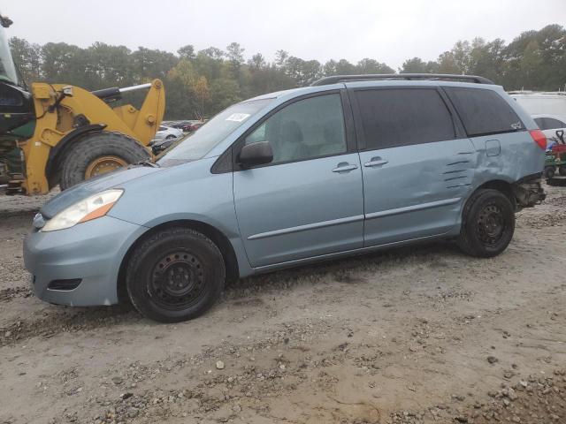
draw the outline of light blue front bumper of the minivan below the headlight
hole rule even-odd
[[[117,281],[122,258],[146,230],[134,223],[103,216],[67,230],[32,231],[24,241],[24,263],[33,275],[35,295],[58,305],[87,307],[118,303]],[[77,279],[80,284],[72,290],[53,289],[61,287],[57,281]]]

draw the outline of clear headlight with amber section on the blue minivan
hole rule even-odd
[[[71,228],[77,223],[85,223],[105,216],[124,193],[121,189],[106,190],[96,193],[53,216],[41,231],[56,231]]]

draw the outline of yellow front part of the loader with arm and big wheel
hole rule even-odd
[[[137,110],[108,102],[135,89],[149,89]],[[88,92],[62,84],[34,83],[34,134],[19,141],[25,158],[22,188],[26,193],[62,190],[80,181],[151,159],[149,141],[164,115],[165,95],[159,79],[149,84]],[[13,182],[11,183],[13,185]]]

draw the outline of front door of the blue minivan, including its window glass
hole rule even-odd
[[[363,246],[362,170],[348,142],[340,92],[284,105],[240,145],[256,141],[270,142],[272,163],[233,173],[252,267]]]

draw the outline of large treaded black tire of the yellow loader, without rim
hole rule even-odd
[[[120,133],[90,133],[73,143],[61,158],[61,190],[66,190],[86,178],[88,165],[103,156],[116,156],[126,164],[147,161],[149,151],[138,141]]]

